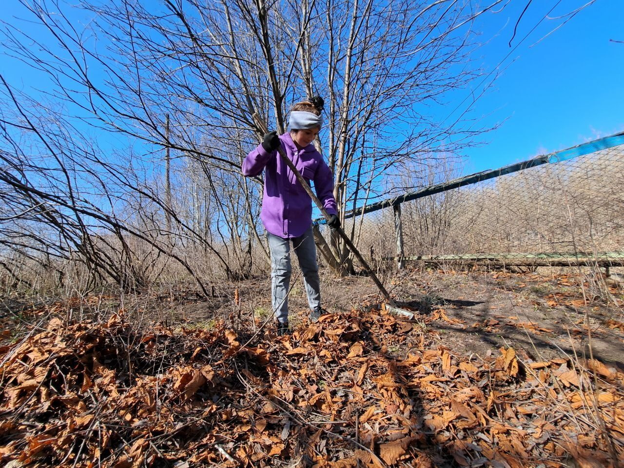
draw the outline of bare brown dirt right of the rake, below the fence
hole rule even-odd
[[[622,367],[623,291],[612,288],[613,302],[605,303],[585,285],[585,301],[578,275],[543,270],[408,273],[395,291],[399,297],[420,293],[419,311],[437,317],[428,326],[457,353],[484,356],[511,346],[534,361],[576,354]]]

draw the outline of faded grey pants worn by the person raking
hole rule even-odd
[[[316,245],[312,226],[299,237],[290,239],[268,234],[271,248],[271,301],[273,311],[278,321],[288,321],[288,288],[290,286],[290,243],[299,260],[303,283],[308,295],[308,305],[314,310],[321,307],[321,284],[318,278],[318,263],[316,263]]]

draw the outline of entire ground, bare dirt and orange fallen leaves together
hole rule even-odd
[[[440,467],[485,466],[492,461],[492,466],[521,468],[528,465],[517,459],[529,457],[558,467],[590,466],[576,462],[587,459],[593,460],[591,466],[613,466],[608,460],[618,459],[618,454],[615,449],[609,452],[602,443],[602,427],[592,421],[597,415],[607,418],[609,440],[619,451],[624,444],[619,435],[624,434],[622,373],[612,369],[624,367],[624,288],[619,275],[607,279],[547,268],[532,273],[406,268],[380,276],[396,301],[414,312],[413,321],[378,313],[381,298],[370,278],[336,278],[328,270],[321,271],[321,281],[324,306],[331,314],[308,324],[305,290],[295,269],[290,293],[295,333],[283,337],[258,330],[273,319],[266,277],[215,284],[210,298],[187,285],[34,305],[25,299],[0,300],[0,349],[13,356],[14,366],[2,389],[4,411],[16,421],[26,421],[14,427],[12,438],[6,439],[11,446],[0,447],[0,452],[21,457],[23,447],[36,451],[24,442],[25,431],[35,434],[49,426],[31,422],[26,414],[52,408],[44,396],[37,399],[29,393],[43,388],[42,395],[54,392],[50,401],[58,405],[61,398],[80,401],[83,409],[87,404],[109,405],[85,414],[105,415],[115,434],[126,431],[120,436],[126,446],[122,439],[140,441],[137,428],[155,424],[141,431],[154,441],[155,453],[162,457],[167,452],[170,461],[189,459],[182,448],[188,446],[188,435],[201,446],[193,446],[193,453],[213,461],[223,461],[213,450],[216,442],[237,457],[259,457],[254,444],[265,440],[266,449],[260,449],[266,451],[261,454],[266,463],[254,466],[275,466],[269,463],[276,455],[289,463],[301,460],[304,452],[324,461],[350,457],[349,466],[356,466],[358,457],[375,455],[376,448],[392,466],[421,456],[431,462],[424,466]],[[87,318],[95,320],[82,320]],[[10,354],[18,351],[19,358]],[[63,371],[49,373],[51,359]],[[90,362],[97,367],[87,369]],[[203,380],[195,378],[204,371]],[[74,376],[87,372],[94,378]],[[44,386],[36,376],[49,381]],[[600,392],[593,404],[585,404],[583,398],[595,391],[598,379]],[[94,398],[84,391],[85,385],[92,391],[105,390],[106,396]],[[56,395],[59,388],[72,399]],[[148,388],[152,393],[146,394],[167,395],[160,411],[171,417],[168,429],[162,426],[161,413],[154,411],[155,397],[137,397]],[[275,406],[273,398],[287,409]],[[72,415],[76,412],[71,404],[63,404]],[[211,404],[214,409],[207,409]],[[598,404],[602,406],[594,406]],[[58,411],[56,406],[52,410]],[[69,421],[67,414],[61,420]],[[193,426],[200,420],[208,426]],[[332,436],[328,439],[311,438],[321,434],[316,425],[321,421],[341,426],[327,429]],[[581,427],[578,421],[587,424]],[[188,434],[172,427],[189,427]],[[369,441],[366,446],[358,447],[370,443],[371,449],[359,453],[345,446],[346,436],[333,432],[338,428],[351,438],[370,436],[361,439]],[[154,436],[154,431],[160,432]],[[266,432],[266,437],[250,431]],[[299,431],[301,440],[286,444],[285,431]],[[77,441],[76,446],[84,437],[81,426],[69,424],[62,433],[66,435],[41,434],[35,436],[66,445]],[[180,438],[179,444],[174,437]],[[405,446],[395,437],[405,439]],[[68,450],[62,446],[55,453],[61,458]],[[396,456],[389,456],[389,450]],[[112,450],[110,457],[122,453]],[[142,456],[148,455],[146,451]],[[532,466],[546,466],[535,463]]]

